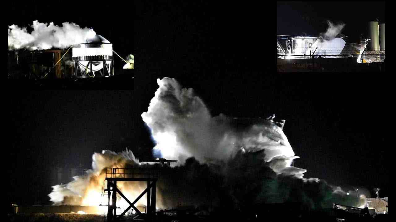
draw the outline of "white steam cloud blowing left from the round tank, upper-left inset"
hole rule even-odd
[[[48,24],[35,20],[30,27],[33,29],[31,33],[27,31],[27,27],[15,24],[8,26],[8,50],[65,49],[96,35],[93,29],[80,28],[78,24],[68,22],[59,27],[53,22]]]

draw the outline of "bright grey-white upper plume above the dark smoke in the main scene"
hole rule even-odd
[[[273,121],[262,121],[239,130],[232,119],[220,115],[212,118],[208,108],[193,90],[181,88],[175,79],[158,79],[158,90],[148,111],[142,114],[150,127],[152,137],[164,158],[184,162],[194,156],[201,162],[215,158],[229,160],[238,151],[263,151],[263,160],[271,162],[277,173],[296,171],[302,177],[303,169],[290,168],[293,149],[282,129]],[[288,169],[285,169],[289,167]]]

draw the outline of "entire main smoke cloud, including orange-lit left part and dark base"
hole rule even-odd
[[[157,182],[160,209],[205,206],[207,211],[244,212],[276,203],[298,203],[304,209],[364,204],[364,197],[347,195],[324,180],[306,179],[307,170],[291,166],[298,157],[271,118],[212,117],[191,88],[183,88],[171,78],[157,83],[158,90],[142,118],[156,141],[154,152],[177,159],[177,166],[138,164],[128,150],[95,153],[88,175],[53,186],[51,201],[97,205],[105,167],[154,167],[161,171]],[[136,182],[117,185],[128,199],[136,198],[146,187],[146,183]],[[146,204],[145,198],[139,204]]]

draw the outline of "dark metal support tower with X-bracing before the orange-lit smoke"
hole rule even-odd
[[[142,171],[145,172],[142,172]],[[107,221],[118,221],[124,216],[131,208],[137,213],[133,219],[141,216],[146,221],[153,221],[156,211],[156,182],[158,180],[158,173],[152,169],[141,168],[106,168],[106,182],[107,182]],[[147,188],[134,200],[129,201],[128,198],[117,188],[117,181],[146,181]],[[125,209],[120,215],[116,214],[117,193],[126,200],[129,207]],[[139,201],[147,193],[147,213],[145,216],[135,207],[135,203]],[[110,204],[111,198],[111,204]]]

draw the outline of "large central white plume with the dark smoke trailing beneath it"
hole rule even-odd
[[[181,164],[194,156],[193,160],[185,161],[185,166],[180,166],[182,169],[177,168],[183,171],[179,177],[172,177],[188,184],[192,179],[185,175],[195,171],[193,177],[198,179],[192,183],[198,188],[191,188],[192,194],[202,187],[206,192],[198,192],[200,196],[209,192],[212,198],[224,200],[220,205],[234,203],[230,206],[234,209],[252,203],[288,201],[303,203],[309,208],[331,207],[337,202],[355,206],[364,203],[363,198],[349,197],[325,181],[303,178],[306,170],[291,166],[292,160],[298,157],[272,118],[244,123],[224,115],[211,117],[191,88],[182,88],[171,78],[158,79],[157,83],[159,88],[142,118],[156,141],[154,153],[160,151],[162,157],[176,158]],[[197,160],[208,165],[200,165]],[[182,187],[188,189],[187,184]],[[175,195],[166,190],[162,190],[162,196],[169,198],[163,198],[164,203],[176,205],[169,203]]]

